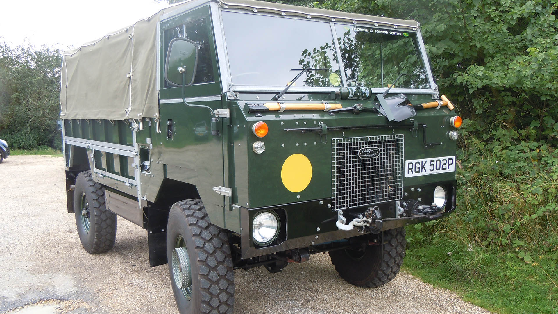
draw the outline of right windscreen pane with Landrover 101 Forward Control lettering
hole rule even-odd
[[[335,32],[349,86],[430,88],[416,33],[340,24]]]

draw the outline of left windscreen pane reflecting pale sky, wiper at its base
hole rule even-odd
[[[340,87],[340,70],[328,22],[222,12],[232,83],[293,87]]]

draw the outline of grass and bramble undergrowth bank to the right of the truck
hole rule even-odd
[[[411,273],[491,310],[558,312],[558,151],[532,132],[464,133],[458,209],[410,228]]]

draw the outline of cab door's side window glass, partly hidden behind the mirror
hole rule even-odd
[[[165,55],[169,48],[169,42],[177,37],[193,40],[200,47],[198,70],[194,78],[194,84],[215,82],[213,78],[213,63],[211,62],[211,50],[208,34],[208,23],[205,17],[199,20],[187,22],[183,25],[170,28],[165,31]],[[165,88],[171,87],[165,82]]]

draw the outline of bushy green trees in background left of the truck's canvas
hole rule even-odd
[[[13,148],[61,148],[61,64],[56,49],[0,43],[0,138]]]

